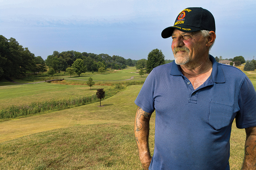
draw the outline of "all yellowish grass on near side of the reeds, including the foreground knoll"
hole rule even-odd
[[[134,99],[141,86],[128,86],[103,100],[104,107],[92,103],[1,122],[0,169],[142,169],[133,134],[137,109]],[[149,136],[152,153],[154,119],[153,113]],[[242,165],[244,141],[244,129],[237,129],[234,123],[230,139],[231,170]]]

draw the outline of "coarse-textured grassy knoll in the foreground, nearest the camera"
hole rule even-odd
[[[142,169],[130,123],[46,131],[0,144],[0,151],[0,169],[6,170]]]

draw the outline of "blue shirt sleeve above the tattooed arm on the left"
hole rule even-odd
[[[138,94],[135,104],[139,106],[143,111],[153,113],[154,106],[154,91],[155,91],[155,76],[154,69],[148,74],[140,93]]]

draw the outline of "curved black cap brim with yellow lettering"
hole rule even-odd
[[[180,30],[182,32],[196,32],[196,31],[202,30],[202,28],[186,26],[186,25],[182,25],[182,28],[179,27],[179,26],[170,26],[170,27],[165,28],[162,31],[162,34],[161,34],[162,37],[164,39],[171,37],[172,36],[172,32],[173,32],[174,29]]]

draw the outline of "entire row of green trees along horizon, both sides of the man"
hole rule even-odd
[[[215,57],[219,62],[222,57]],[[235,61],[236,65],[245,63],[243,56],[236,56],[234,59],[228,59],[230,62]],[[124,69],[127,66],[136,66],[137,69],[145,69],[150,73],[154,67],[161,64],[172,62],[173,60],[164,60],[164,54],[159,49],[154,49],[148,53],[147,59],[132,60],[124,59],[121,56],[108,54],[94,54],[76,51],[53,51],[48,55],[46,60],[41,56],[35,57],[28,48],[21,46],[16,39],[6,39],[0,35],[0,79],[4,77],[20,77],[26,73],[46,72],[49,67],[50,75],[55,72],[67,72],[78,74],[84,72],[98,71],[103,73],[106,69]],[[251,61],[253,64],[255,60]],[[254,65],[256,67],[256,65]],[[247,67],[245,67],[247,68]],[[252,66],[250,66],[252,69]],[[140,71],[142,75],[142,71]]]

